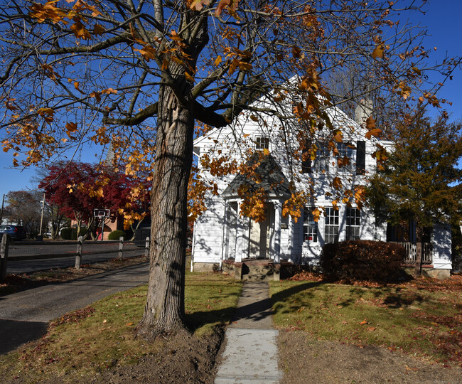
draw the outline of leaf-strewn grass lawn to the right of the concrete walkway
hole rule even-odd
[[[462,366],[461,277],[372,287],[283,281],[271,295],[280,329]]]

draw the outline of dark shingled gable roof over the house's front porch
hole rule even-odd
[[[259,154],[254,154],[252,158],[247,161],[248,166],[253,166],[257,163],[259,164],[254,172],[257,174],[257,176],[259,176],[259,178],[261,178],[261,181],[257,183],[245,174],[238,174],[235,178],[232,179],[231,183],[226,187],[225,191],[222,192],[222,198],[227,199],[240,197],[237,191],[242,185],[247,185],[250,192],[257,191],[259,188],[263,188],[266,196],[285,198],[291,196],[289,181],[282,173],[281,168],[276,163],[276,160],[274,160],[273,156],[268,155],[260,159]]]

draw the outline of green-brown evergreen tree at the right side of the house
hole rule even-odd
[[[458,223],[461,216],[461,123],[436,121],[424,110],[407,115],[394,128],[394,147],[383,171],[370,178],[367,196],[378,220],[392,225],[413,220],[417,243],[424,229],[437,223]],[[416,274],[421,272],[421,253]]]

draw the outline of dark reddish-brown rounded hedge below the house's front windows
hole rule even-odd
[[[326,279],[395,282],[404,276],[405,255],[393,242],[349,240],[324,245],[319,264]]]

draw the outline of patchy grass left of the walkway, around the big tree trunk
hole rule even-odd
[[[2,378],[36,383],[60,377],[74,382],[146,356],[161,356],[165,352],[162,340],[146,343],[133,337],[144,311],[146,289],[119,292],[52,321],[40,341],[0,356]],[[194,334],[206,337],[218,324],[230,321],[240,292],[240,282],[219,274],[188,273],[186,313]]]

